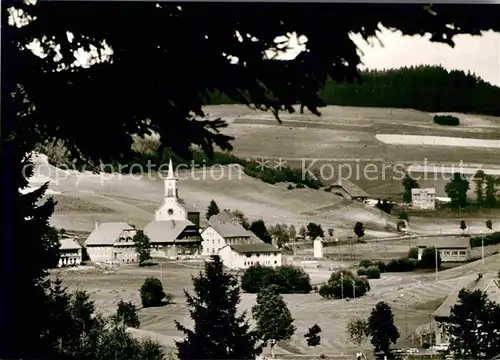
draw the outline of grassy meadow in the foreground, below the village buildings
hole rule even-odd
[[[370,280],[372,290],[368,296],[349,302],[323,300],[315,293],[284,295],[298,330],[291,340],[280,343],[277,352],[311,355],[353,354],[357,349],[348,342],[346,324],[354,317],[368,316],[379,301],[388,302],[394,311],[395,322],[401,333],[398,346],[410,346],[411,334],[418,327],[429,323],[430,314],[464,276],[474,277],[479,271],[496,273],[499,259],[498,255],[494,255],[486,259],[484,266],[478,262],[442,271],[437,281],[434,274],[384,274],[379,280]],[[330,274],[330,264],[326,262],[322,263],[322,268],[317,267],[317,262],[296,260],[295,264],[304,266],[313,283],[325,281]],[[158,267],[145,269],[123,266],[115,274],[108,275],[90,270],[88,273],[61,270],[59,275],[70,290],[80,288],[89,292],[98,310],[106,315],[115,311],[119,299],[140,305],[138,289],[144,279],[148,276],[161,277],[166,291],[174,294],[175,303],[166,307],[141,309],[141,330],[136,333],[139,336],[151,337],[165,347],[172,348],[174,341],[181,336],[175,328],[174,320],[191,324],[183,289],[192,290],[190,276],[199,270],[199,264],[194,262],[170,262],[163,265],[163,271]],[[255,295],[242,294],[240,309],[250,311],[254,302]],[[310,349],[303,333],[316,323],[323,330],[322,343]],[[365,347],[369,349],[370,345],[366,344]]]

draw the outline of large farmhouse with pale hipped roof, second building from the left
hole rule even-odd
[[[85,241],[90,260],[136,262],[137,253],[133,241],[136,232],[134,227],[125,222],[96,223],[94,231]]]

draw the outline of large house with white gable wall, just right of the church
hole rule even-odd
[[[261,243],[257,237],[238,222],[228,210],[210,217],[208,226],[202,231],[203,255],[217,255],[226,245]]]

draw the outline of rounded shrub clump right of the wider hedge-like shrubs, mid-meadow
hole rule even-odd
[[[354,291],[356,294],[354,294]],[[328,282],[321,285],[319,295],[326,299],[341,298],[343,292],[345,298],[352,298],[354,295],[356,297],[363,296],[368,291],[370,291],[370,284],[365,277],[359,277],[350,271],[341,270],[333,272]]]

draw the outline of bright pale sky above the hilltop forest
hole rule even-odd
[[[458,35],[453,39],[455,47],[432,43],[430,35],[403,36],[400,31],[382,28],[376,39],[367,44],[360,36],[351,39],[363,53],[363,69],[390,69],[415,65],[441,65],[447,70],[471,71],[483,80],[500,86],[500,34],[492,31],[482,36]],[[282,58],[293,58],[301,51],[299,43],[305,39],[292,37],[294,49]]]

